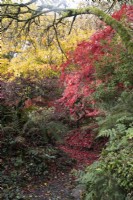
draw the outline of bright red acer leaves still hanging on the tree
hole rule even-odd
[[[133,6],[123,5],[112,17],[120,20],[127,16],[127,20],[130,20],[132,10]],[[110,74],[105,80],[96,79],[95,62],[105,55],[109,57],[114,34],[115,31],[106,26],[104,30],[96,32],[89,41],[78,44],[74,52],[68,53],[67,61],[62,64],[61,81],[65,90],[58,102],[67,107],[77,120],[82,117],[95,117],[100,113],[95,106],[93,94],[97,86],[109,79]],[[73,71],[69,70],[71,67],[74,68]]]

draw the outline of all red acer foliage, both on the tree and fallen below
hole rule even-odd
[[[123,5],[121,10],[115,12],[112,17],[120,21],[124,17],[126,21],[132,20],[133,6]],[[125,21],[125,22],[126,22]],[[96,76],[96,61],[101,62],[101,68],[106,66],[104,57],[108,57],[108,62],[120,60],[121,44],[112,46],[112,39],[115,31],[106,26],[103,30],[97,31],[89,41],[78,44],[74,52],[68,53],[68,59],[62,64],[61,81],[65,90],[59,103],[67,107],[70,114],[76,120],[86,117],[93,117],[103,114],[96,107],[96,100],[93,94],[102,83],[108,83],[112,79],[112,74],[108,70],[101,78]],[[117,53],[112,54],[116,50]],[[118,62],[119,63],[119,62]],[[117,66],[115,66],[117,68]],[[73,69],[73,70],[71,70]],[[124,89],[124,84],[120,81],[116,84],[116,90]],[[106,87],[104,88],[106,90]],[[99,142],[94,141],[93,128],[88,131],[75,130],[64,141],[60,148],[68,153],[79,163],[91,164],[99,158],[100,151],[106,143],[106,139]]]

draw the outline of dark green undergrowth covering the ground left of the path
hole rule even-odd
[[[57,158],[62,156],[55,143],[61,142],[61,135],[68,128],[54,119],[54,108],[44,107],[25,112],[23,117],[20,117],[13,108],[6,106],[2,110],[4,116],[0,124],[0,199],[2,200],[25,199],[23,188],[36,177],[48,177],[51,164],[56,165]],[[66,156],[65,162],[72,161]]]

